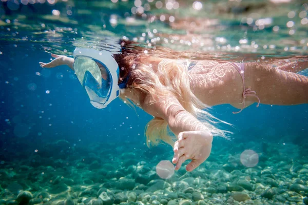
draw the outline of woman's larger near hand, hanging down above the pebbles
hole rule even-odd
[[[212,141],[213,135],[208,131],[181,132],[174,146],[172,162],[177,164],[175,170],[179,170],[187,159],[191,159],[186,166],[188,172],[199,167],[208,158]]]

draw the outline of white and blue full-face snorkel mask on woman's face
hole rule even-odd
[[[126,87],[126,84],[118,85],[120,69],[110,52],[76,48],[74,59],[76,76],[95,108],[106,108],[119,96],[120,88]]]

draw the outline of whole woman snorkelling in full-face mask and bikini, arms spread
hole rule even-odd
[[[223,121],[205,108],[230,104],[239,113],[254,103],[257,107],[308,103],[308,77],[296,73],[308,67],[305,57],[275,61],[274,67],[267,62],[163,58],[156,54],[166,48],[149,50],[129,41],[121,41],[121,46],[118,54],[76,48],[74,58],[52,54],[55,59],[40,65],[73,69],[94,107],[104,108],[120,96],[152,115],[146,126],[147,145],[164,141],[174,147],[176,170],[188,159],[186,170],[196,169],[208,158],[213,136],[227,138],[229,132],[216,126]]]

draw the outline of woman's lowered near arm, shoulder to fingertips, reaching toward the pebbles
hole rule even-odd
[[[163,118],[168,122],[170,130],[178,136],[174,146],[176,170],[187,159],[191,162],[187,171],[196,169],[204,162],[211,151],[213,135],[196,117],[187,112],[174,96],[160,98],[159,102],[149,103],[152,99],[146,96],[141,101],[141,107],[149,114]]]

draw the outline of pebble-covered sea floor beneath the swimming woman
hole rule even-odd
[[[308,204],[306,145],[228,143],[214,146],[195,171],[183,166],[169,179],[156,173],[159,161],[172,159],[166,146],[59,140],[15,155],[2,149],[0,204]],[[240,161],[247,147],[259,156],[253,168]]]

